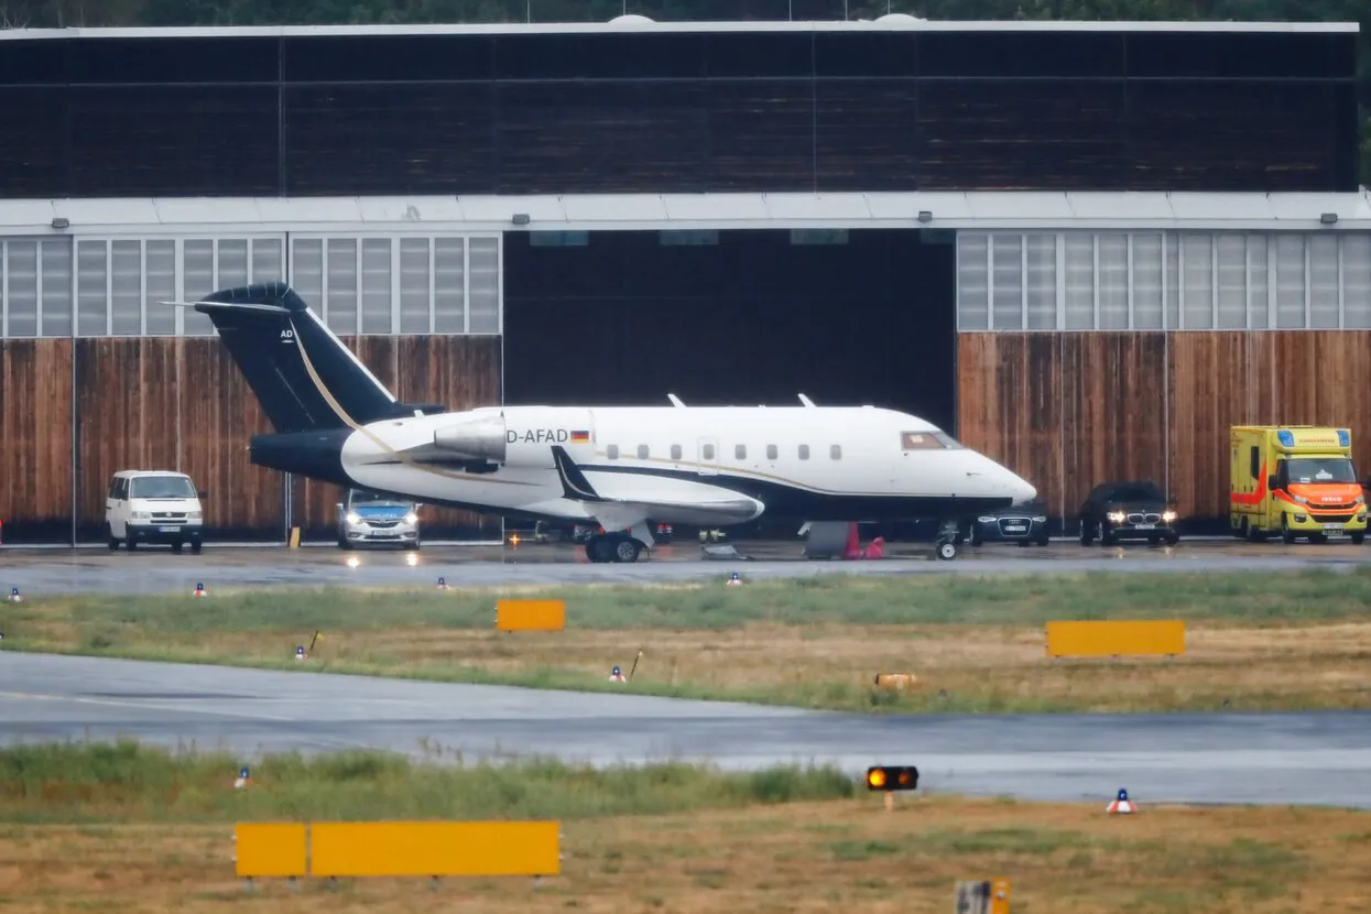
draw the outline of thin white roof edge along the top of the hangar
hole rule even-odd
[[[609,22],[506,22],[462,25],[186,26],[154,29],[4,29],[11,38],[199,38],[407,34],[576,34],[599,32],[1357,32],[1356,22],[1063,22],[930,21],[903,14],[876,19],[817,22],[653,22],[620,16]]]

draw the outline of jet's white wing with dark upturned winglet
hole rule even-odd
[[[625,477],[631,491],[616,491],[613,482],[592,485],[562,447],[553,447],[562,495],[585,504],[600,523],[628,528],[647,518],[676,519],[681,523],[742,523],[765,510],[754,497],[703,482],[680,485],[676,480]],[[606,529],[610,529],[606,525]]]

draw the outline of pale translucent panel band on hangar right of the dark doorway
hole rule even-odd
[[[960,232],[957,329],[1371,329],[1371,233]]]

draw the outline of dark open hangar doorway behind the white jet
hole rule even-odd
[[[790,406],[803,392],[954,430],[953,240],[919,229],[509,232],[505,402],[668,406],[676,393],[687,406]],[[914,532],[899,526],[883,532]]]

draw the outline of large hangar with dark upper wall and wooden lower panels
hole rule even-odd
[[[0,33],[4,541],[100,541],[134,466],[215,536],[326,534],[335,488],[248,463],[252,396],[158,304],[274,278],[409,402],[888,406],[1068,533],[1115,477],[1224,517],[1230,423],[1348,423],[1366,465],[1356,29]]]

